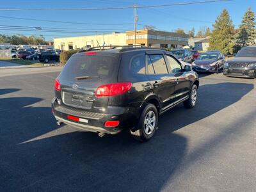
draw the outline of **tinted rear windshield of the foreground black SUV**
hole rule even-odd
[[[90,76],[100,79],[110,77],[118,61],[115,56],[72,56],[61,72],[61,77],[74,81],[76,77]]]

